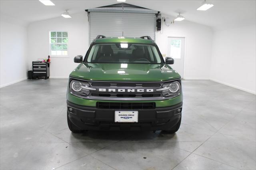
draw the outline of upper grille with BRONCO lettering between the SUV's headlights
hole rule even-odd
[[[176,81],[176,80],[172,80]],[[91,88],[96,90],[90,91],[89,95],[82,97],[85,99],[100,100],[100,101],[157,101],[170,99],[164,97],[160,89],[166,81],[151,81],[151,82],[133,82],[133,81],[87,81]],[[169,81],[168,81],[169,82]],[[119,89],[122,89],[122,91]],[[138,91],[140,89],[140,91]],[[142,91],[141,91],[142,90]]]

